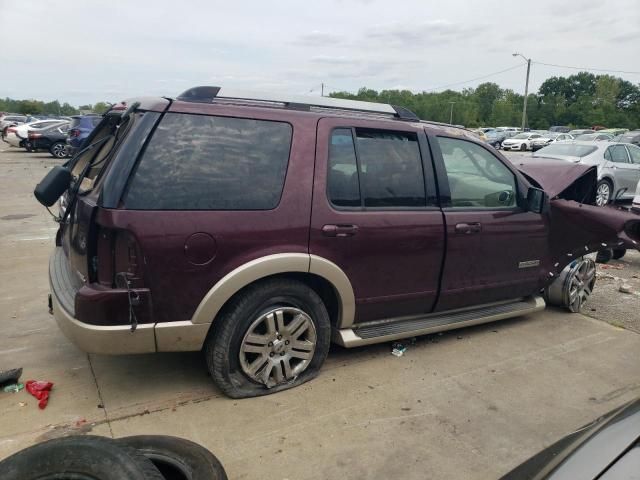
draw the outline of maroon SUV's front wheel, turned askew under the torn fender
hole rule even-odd
[[[580,258],[567,265],[558,278],[547,287],[547,301],[578,313],[587,302],[596,284],[596,264],[590,258]]]

